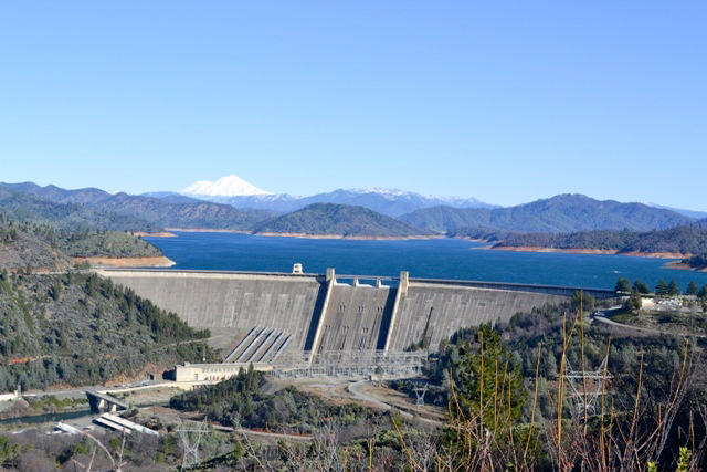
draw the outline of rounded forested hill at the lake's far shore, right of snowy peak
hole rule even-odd
[[[431,234],[430,231],[411,227],[363,207],[336,203],[314,203],[302,210],[264,221],[255,227],[255,233],[336,234],[373,238]]]

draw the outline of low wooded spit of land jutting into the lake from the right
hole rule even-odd
[[[606,230],[580,231],[569,234],[506,234],[499,245],[707,254],[707,229],[677,227],[647,232]]]

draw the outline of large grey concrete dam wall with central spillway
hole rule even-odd
[[[170,270],[103,270],[190,326],[228,334],[224,356],[272,361],[279,354],[434,350],[457,329],[507,321],[578,289],[400,277]],[[585,289],[597,298],[613,296]]]

